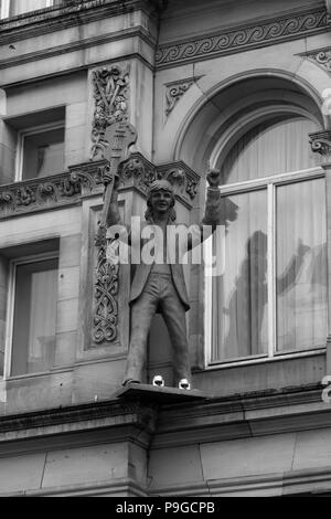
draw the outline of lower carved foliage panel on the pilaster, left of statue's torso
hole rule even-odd
[[[106,236],[96,237],[97,265],[94,286],[93,340],[98,346],[117,338],[118,265],[106,261]]]

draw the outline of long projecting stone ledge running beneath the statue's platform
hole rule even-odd
[[[114,438],[132,437],[137,427],[154,434],[156,448],[317,430],[331,426],[331,404],[322,402],[321,394],[322,386],[314,385],[159,407],[148,401],[114,399],[4,415],[0,417],[0,445],[94,430],[109,439],[109,427]]]

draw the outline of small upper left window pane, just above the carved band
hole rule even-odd
[[[22,179],[62,173],[64,128],[26,135],[23,140]]]

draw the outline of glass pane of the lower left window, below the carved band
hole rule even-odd
[[[55,351],[57,260],[18,265],[11,374],[51,368]]]

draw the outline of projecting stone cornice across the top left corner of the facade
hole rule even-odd
[[[65,6],[0,20],[0,45],[131,11],[142,10],[150,14],[160,9],[162,4],[158,0],[72,0]]]

